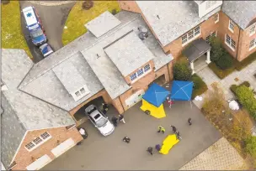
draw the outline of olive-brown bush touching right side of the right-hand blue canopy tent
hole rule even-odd
[[[191,80],[194,82],[192,99],[195,99],[195,96],[200,96],[208,90],[207,85],[205,84],[204,80],[200,78],[200,76],[194,74],[192,75]]]

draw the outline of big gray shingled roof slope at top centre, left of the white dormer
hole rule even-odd
[[[194,1],[136,1],[136,3],[163,46],[178,39],[221,10],[216,8],[203,18],[199,18],[198,7]]]

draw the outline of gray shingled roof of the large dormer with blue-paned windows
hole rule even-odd
[[[133,31],[109,45],[104,51],[124,76],[131,74],[155,57]]]

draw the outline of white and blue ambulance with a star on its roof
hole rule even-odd
[[[47,42],[45,29],[42,26],[39,15],[34,7],[27,7],[22,10],[24,14],[26,28],[29,30],[29,38],[33,44],[40,46]]]

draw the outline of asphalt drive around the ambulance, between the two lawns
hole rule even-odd
[[[58,6],[43,6],[35,3],[29,3],[27,1],[20,1],[19,3],[21,10],[29,6],[35,7],[35,10],[39,14],[45,29],[45,34],[48,38],[48,44],[51,45],[51,48],[54,51],[61,49],[63,46],[61,42],[61,34],[64,28],[64,24],[67,20],[68,13],[76,2]],[[21,16],[23,16],[23,14]],[[40,49],[35,47],[35,45],[29,39],[29,32],[25,28],[24,17],[21,17],[21,25],[24,32],[24,38],[26,39],[30,52],[34,57],[34,63],[43,60],[44,57],[40,53]]]

